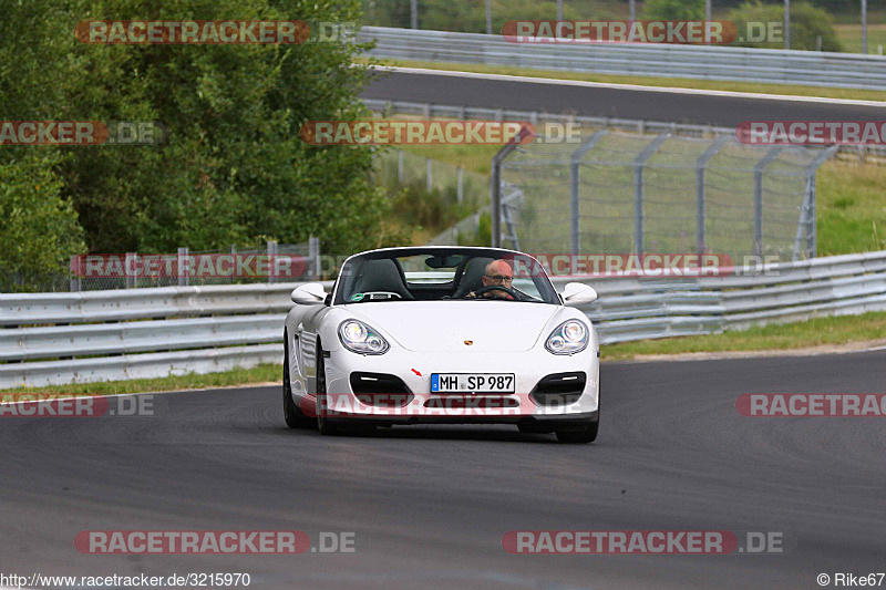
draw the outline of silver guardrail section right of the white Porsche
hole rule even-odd
[[[886,311],[886,251],[732,270],[723,277],[584,278],[600,297],[581,309],[604,344]]]

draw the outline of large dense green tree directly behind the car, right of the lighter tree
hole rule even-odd
[[[359,0],[79,0],[78,19],[353,22]],[[73,24],[72,24],[73,27]],[[69,101],[83,117],[159,121],[157,146],[80,151],[65,167],[90,248],[167,251],[260,239],[377,246],[387,201],[368,147],[313,147],[308,121],[369,116],[356,43],[79,44]],[[111,100],[109,100],[111,97]]]

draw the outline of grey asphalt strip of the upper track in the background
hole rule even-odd
[[[738,97],[667,91],[571,86],[549,82],[509,82],[447,73],[385,72],[361,94],[364,99],[487,106],[585,116],[674,121],[733,127],[744,121],[882,121],[883,106]]]

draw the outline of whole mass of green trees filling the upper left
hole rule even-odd
[[[38,240],[23,245],[28,252],[42,256],[53,242],[62,260],[80,253],[83,239],[93,252],[156,252],[311,235],[326,251],[348,252],[399,239],[380,237],[390,203],[370,179],[370,148],[315,147],[299,137],[309,121],[370,116],[358,94],[371,71],[352,64],[364,45],[109,45],[74,38],[76,23],[90,19],[349,23],[360,20],[359,0],[6,4],[4,120],[157,121],[166,131],[157,145],[2,147],[0,211],[24,207],[54,219],[34,219],[40,231],[17,230],[20,240]],[[28,205],[37,200],[45,206]],[[0,253],[0,263],[10,256]],[[10,268],[18,272],[28,257],[16,256]]]

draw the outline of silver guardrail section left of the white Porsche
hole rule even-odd
[[[331,282],[326,283],[327,287]],[[0,389],[279,362],[292,283],[0,298]]]

